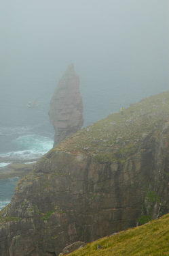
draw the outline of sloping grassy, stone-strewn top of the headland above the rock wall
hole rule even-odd
[[[56,145],[52,151],[93,156],[98,162],[125,162],[153,130],[158,137],[160,127],[169,119],[169,91],[141,100],[83,128]]]

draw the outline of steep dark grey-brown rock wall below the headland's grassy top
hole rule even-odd
[[[147,137],[124,164],[56,150],[43,156],[1,212],[1,255],[58,255],[75,241],[132,227],[149,184],[160,199],[154,216],[167,212],[168,134]]]

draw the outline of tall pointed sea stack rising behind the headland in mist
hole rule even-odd
[[[50,101],[50,122],[54,126],[54,146],[83,125],[83,103],[79,91],[79,76],[73,64],[60,79]]]

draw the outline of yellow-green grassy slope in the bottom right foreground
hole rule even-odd
[[[102,248],[97,249],[98,244]],[[169,255],[169,214],[155,221],[101,238],[69,256]]]

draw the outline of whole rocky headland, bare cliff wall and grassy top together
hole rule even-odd
[[[0,212],[0,255],[58,255],[168,212],[168,117],[166,92],[45,154]]]

